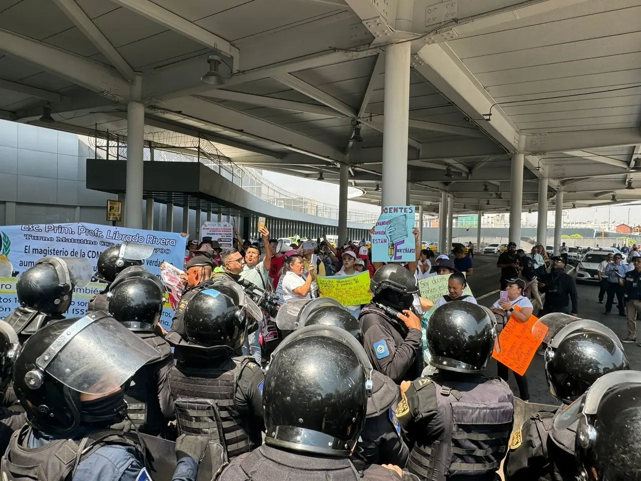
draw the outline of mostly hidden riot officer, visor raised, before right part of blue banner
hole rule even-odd
[[[142,266],[142,262],[154,253],[153,246],[137,244],[137,242],[122,242],[106,249],[98,257],[97,280],[106,282],[102,292],[89,300],[87,312],[92,310],[107,310],[107,292],[109,285],[124,269],[131,266]]]

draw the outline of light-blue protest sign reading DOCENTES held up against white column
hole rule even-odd
[[[413,205],[383,208],[372,235],[372,262],[416,260],[414,210]]]

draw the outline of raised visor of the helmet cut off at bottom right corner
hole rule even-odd
[[[617,384],[641,384],[641,371],[614,371],[601,376],[590,389],[554,419],[554,428],[562,430],[572,426],[581,416],[597,414],[603,395]]]

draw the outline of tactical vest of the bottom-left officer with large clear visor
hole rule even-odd
[[[133,435],[106,429],[90,432],[82,439],[57,439],[39,448],[29,449],[32,428],[24,425],[13,433],[1,462],[3,481],[63,481],[71,479],[78,464],[106,444],[133,446],[139,453],[144,448]]]

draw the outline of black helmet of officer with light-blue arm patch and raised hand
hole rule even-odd
[[[419,285],[414,275],[405,267],[400,264],[385,264],[372,276],[370,291],[374,302],[402,311],[412,308]]]

